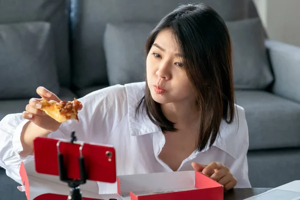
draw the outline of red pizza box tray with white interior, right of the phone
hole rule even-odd
[[[223,185],[198,171],[176,171],[117,176],[124,200],[223,200]]]

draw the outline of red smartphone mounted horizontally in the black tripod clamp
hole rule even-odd
[[[58,139],[36,137],[33,141],[35,169],[38,173],[59,175],[58,173]],[[63,155],[64,166],[69,178],[80,178],[79,143],[69,141],[59,142],[59,152]],[[115,150],[111,146],[101,144],[84,143],[82,146],[82,156],[88,180],[115,182]]]

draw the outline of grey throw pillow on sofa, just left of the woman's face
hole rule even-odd
[[[154,23],[106,25],[103,46],[110,85],[145,80],[144,44]]]

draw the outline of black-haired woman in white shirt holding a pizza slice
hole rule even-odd
[[[113,85],[80,98],[79,122],[58,123],[39,100],[60,101],[38,87],[23,113],[0,122],[0,165],[19,181],[21,160],[33,159],[36,136],[112,144],[117,174],[198,170],[224,189],[250,187],[248,132],[234,104],[231,43],[222,18],[203,4],[167,14],[146,41],[146,81]],[[101,183],[99,193],[116,192]]]

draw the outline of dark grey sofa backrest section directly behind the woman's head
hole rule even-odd
[[[248,0],[201,0],[213,7],[226,20],[247,15]],[[180,4],[198,0],[76,0],[72,20],[73,84],[79,89],[108,84],[103,33],[108,22],[153,22]],[[83,70],[84,69],[84,70]]]

